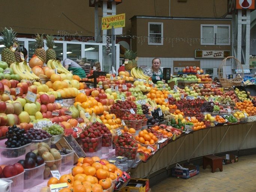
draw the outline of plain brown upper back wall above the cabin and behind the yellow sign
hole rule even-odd
[[[171,0],[170,7],[174,17],[215,17],[213,0],[188,0],[186,3]],[[215,0],[215,7],[217,17],[224,15],[227,0]],[[126,13],[123,32],[131,34],[129,19],[132,16],[169,16],[169,0],[123,0],[117,5],[117,13]],[[99,15],[101,19],[101,9]],[[13,27],[18,33],[57,35],[58,30],[65,30],[70,34],[77,31],[83,36],[94,36],[94,7],[89,7],[89,0],[3,0],[0,18],[0,28]]]

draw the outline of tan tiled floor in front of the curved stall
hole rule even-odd
[[[208,166],[209,167],[209,166]],[[189,179],[168,177],[151,188],[152,192],[256,192],[256,155],[241,156],[238,162],[223,165],[223,172],[200,167]]]

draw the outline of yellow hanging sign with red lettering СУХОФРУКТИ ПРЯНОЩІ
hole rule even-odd
[[[101,19],[101,30],[111,29],[112,26],[114,28],[125,27],[125,13]]]

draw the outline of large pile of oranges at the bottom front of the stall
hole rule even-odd
[[[97,156],[79,158],[72,173],[62,175],[59,180],[51,177],[47,186],[67,183],[68,188],[61,189],[59,192],[103,192],[103,190],[109,189],[122,173],[122,170],[115,165]]]

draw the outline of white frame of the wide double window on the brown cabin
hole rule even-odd
[[[213,34],[214,34],[214,37],[213,37],[213,43],[203,43],[202,40],[204,39],[203,38],[203,31],[202,31],[202,28],[203,27],[213,27]],[[228,43],[218,43],[217,42],[217,30],[218,30],[218,27],[228,27]],[[230,41],[230,38],[231,38],[231,34],[230,34],[230,25],[214,25],[214,24],[201,24],[201,27],[200,27],[200,31],[201,31],[201,45],[231,45],[231,41]]]

